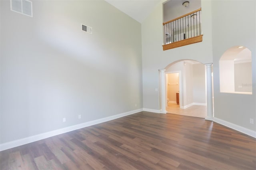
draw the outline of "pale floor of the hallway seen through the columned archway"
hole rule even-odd
[[[169,103],[168,106],[166,107],[166,111],[167,113],[172,113],[176,115],[184,115],[199,118],[206,117],[206,106],[192,105],[187,109],[180,109],[180,105],[177,105],[175,103]]]

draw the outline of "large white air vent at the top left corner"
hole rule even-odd
[[[11,10],[33,17],[32,2],[29,0],[10,0]]]

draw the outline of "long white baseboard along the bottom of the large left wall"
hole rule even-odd
[[[65,128],[61,128],[61,129],[57,129],[57,130],[52,130],[50,132],[36,134],[34,136],[29,136],[29,137],[18,139],[18,140],[13,140],[11,142],[6,142],[6,143],[3,143],[3,144],[0,144],[0,151],[10,149],[10,148],[14,148],[16,146],[21,146],[23,144],[28,144],[28,143],[31,143],[31,142],[35,142],[35,141],[38,141],[38,140],[42,140],[42,139],[45,139],[45,138],[49,138],[49,137],[52,137],[52,136],[56,136],[58,134],[62,134],[62,133],[70,132],[70,131],[73,131],[73,130],[77,130],[77,129],[80,129],[80,128],[96,125],[96,124],[103,123],[103,122],[106,122],[106,121],[111,121],[111,120],[114,120],[114,119],[118,119],[120,117],[132,115],[134,113],[141,112],[142,110],[143,109],[137,109],[137,110],[129,111],[129,112],[126,112],[126,113],[120,113],[118,115],[113,115],[113,116],[110,116],[110,117],[105,117],[105,118],[102,118],[102,119],[97,119],[97,120],[94,120],[94,121],[85,122],[85,123],[81,123],[81,124],[78,124],[78,125],[73,125],[73,126],[70,126],[70,127],[65,127]]]

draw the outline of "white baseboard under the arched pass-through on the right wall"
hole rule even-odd
[[[248,129],[248,128],[244,128],[244,127],[241,127],[241,126],[239,126],[239,125],[235,125],[235,124],[233,124],[233,123],[224,121],[224,120],[222,120],[222,119],[218,119],[218,118],[216,118],[216,117],[214,117],[213,121],[216,122],[216,123],[219,123],[219,124],[221,124],[221,125],[224,125],[224,126],[226,126],[226,127],[232,128],[232,129],[234,129],[234,130],[237,130],[237,131],[239,131],[239,132],[242,132],[242,133],[244,133],[244,134],[247,134],[247,135],[249,135],[249,136],[252,136],[252,137],[256,138],[256,131],[254,131],[254,130],[250,130],[250,129]]]

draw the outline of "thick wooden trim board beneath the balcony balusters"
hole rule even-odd
[[[166,49],[177,48],[177,47],[181,47],[184,45],[189,45],[192,43],[198,43],[198,42],[202,42],[202,41],[203,41],[203,35],[200,35],[200,36],[188,38],[186,40],[181,40],[178,42],[173,42],[173,43],[169,43],[169,44],[162,45],[162,46],[163,46],[163,50],[166,50]]]

